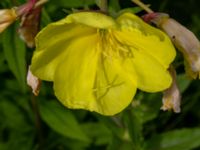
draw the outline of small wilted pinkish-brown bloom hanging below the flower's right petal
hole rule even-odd
[[[163,105],[161,109],[164,111],[173,110],[175,113],[180,113],[181,93],[177,86],[176,71],[171,66],[169,72],[172,77],[172,84],[167,90],[163,92],[163,98],[162,98]]]

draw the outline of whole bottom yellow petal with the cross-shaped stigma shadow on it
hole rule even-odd
[[[88,36],[68,47],[55,73],[54,90],[69,108],[114,115],[130,104],[136,86],[116,73],[112,61],[102,59],[97,42],[96,35]]]

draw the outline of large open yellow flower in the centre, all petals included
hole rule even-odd
[[[131,13],[115,20],[80,12],[37,35],[31,71],[53,81],[65,106],[114,115],[131,103],[137,88],[168,88],[174,57],[170,39]]]

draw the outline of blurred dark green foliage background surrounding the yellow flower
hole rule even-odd
[[[24,2],[1,0],[0,9]],[[200,39],[200,1],[143,2],[167,12]],[[111,14],[134,7],[130,0],[109,1]],[[95,0],[49,0],[42,10],[41,28],[76,9],[98,7]],[[200,81],[185,76],[179,53],[174,65],[182,92],[180,114],[160,110],[162,93],[138,91],[131,106],[106,117],[63,107],[51,83],[43,82],[38,97],[31,94],[26,72],[34,49],[19,39],[18,24],[0,35],[0,150],[200,150]]]

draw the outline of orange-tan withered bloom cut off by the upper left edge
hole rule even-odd
[[[0,33],[3,32],[17,18],[15,9],[0,10]]]

